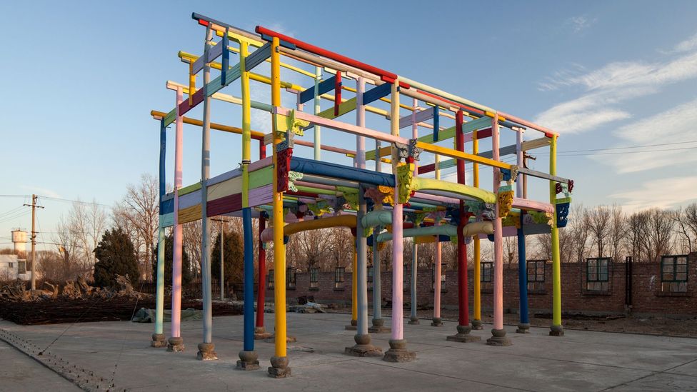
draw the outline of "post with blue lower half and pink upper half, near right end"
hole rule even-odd
[[[516,129],[516,164],[523,167],[523,129]],[[516,181],[516,196],[523,198],[523,181]],[[530,331],[530,319],[528,317],[528,271],[525,255],[525,233],[523,233],[523,216],[525,211],[521,210],[520,227],[516,234],[518,236],[518,291],[520,293],[520,306],[518,311],[521,313],[521,321],[518,323],[517,333],[528,333]]]

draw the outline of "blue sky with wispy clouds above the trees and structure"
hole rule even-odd
[[[111,206],[141,174],[157,174],[159,126],[149,112],[174,107],[167,80],[186,83],[188,66],[177,52],[203,51],[204,29],[192,11],[249,31],[261,24],[555,129],[558,174],[575,181],[574,203],[636,211],[697,200],[695,1],[258,4],[0,4],[0,195],[19,195],[0,196],[0,248],[9,246],[11,229],[31,227],[29,208],[19,208],[26,195],[45,196],[38,218],[48,242],[71,206],[66,200]],[[239,84],[229,89],[239,96]],[[252,94],[269,99],[269,88],[253,85]],[[239,108],[212,107],[214,122],[240,126]],[[201,118],[200,108],[189,115]],[[256,112],[252,120],[269,131],[268,116]],[[386,124],[368,119],[375,129],[388,131]],[[511,131],[502,138],[502,146],[514,141]],[[353,143],[331,132],[323,141]],[[212,175],[237,167],[239,136],[214,133],[211,144]],[[186,185],[201,178],[200,131],[186,127],[184,145]],[[545,152],[532,152],[533,169],[548,169]],[[533,198],[544,200],[545,182],[532,184]]]

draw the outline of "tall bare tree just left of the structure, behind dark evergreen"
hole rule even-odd
[[[142,278],[151,278],[151,251],[159,228],[159,181],[142,174],[139,184],[126,186],[126,195],[114,207],[114,223],[131,236],[138,252]]]

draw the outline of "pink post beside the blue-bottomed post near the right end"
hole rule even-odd
[[[494,161],[501,159],[498,151],[498,138],[498,114],[495,113],[491,119],[491,151]],[[498,194],[500,186],[501,170],[493,168],[494,194]],[[486,343],[491,346],[511,346],[511,339],[506,336],[506,330],[503,329],[503,233],[501,233],[503,225],[499,204],[497,198],[494,211],[496,218],[493,221],[493,329],[491,330],[492,336],[487,339]]]

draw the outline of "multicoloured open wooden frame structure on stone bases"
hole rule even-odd
[[[566,224],[573,181],[556,175],[556,143],[558,135],[551,129],[497,111],[460,96],[418,83],[390,71],[349,59],[341,54],[319,48],[293,37],[257,26],[255,32],[245,31],[209,17],[193,14],[205,28],[202,56],[179,52],[188,68],[186,84],[169,81],[176,91],[174,109],[152,111],[159,120],[160,148],[160,242],[164,229],[174,229],[174,277],[172,291],[172,323],[169,348],[184,349],[179,333],[181,303],[181,224],[201,219],[203,222],[202,278],[204,320],[200,359],[215,359],[212,341],[210,225],[213,216],[241,216],[244,223],[244,343],[238,366],[259,368],[254,351],[254,338],[268,336],[264,328],[266,243],[274,248],[275,344],[269,374],[290,375],[286,352],[286,252],[288,236],[304,230],[342,226],[351,228],[356,236],[352,284],[352,324],[356,327],[355,345],[345,352],[355,356],[381,355],[386,361],[411,361],[416,356],[408,350],[403,328],[403,238],[413,238],[413,276],[416,276],[418,243],[436,242],[436,286],[433,326],[441,326],[440,266],[442,241],[457,243],[458,293],[460,296],[457,333],[453,341],[478,340],[472,326],[481,326],[479,296],[480,242],[493,241],[494,248],[494,320],[491,345],[506,346],[510,340],[503,330],[503,253],[504,236],[517,236],[521,266],[521,325],[527,324],[525,277],[525,236],[550,233],[553,262],[553,323],[551,335],[563,334],[561,327],[561,281],[558,252],[558,227]],[[237,59],[233,61],[232,59]],[[257,66],[271,65],[270,74],[258,73]],[[299,86],[281,80],[281,69],[306,76],[308,82]],[[197,86],[196,76],[203,74]],[[239,81],[239,96],[229,94]],[[254,82],[254,86],[251,83]],[[355,87],[354,87],[355,86]],[[251,99],[251,89],[271,89],[269,103]],[[226,91],[226,92],[224,92]],[[401,104],[402,98],[410,104]],[[211,100],[241,106],[241,127],[211,122]],[[329,103],[324,110],[322,101]],[[311,110],[305,106],[313,101]],[[294,102],[292,107],[283,102]],[[185,114],[203,104],[203,119]],[[251,129],[251,110],[269,116],[271,132]],[[355,121],[349,114],[355,113]],[[366,126],[366,113],[375,114],[374,126]],[[374,120],[374,121],[373,121]],[[174,192],[166,194],[166,129],[175,124]],[[201,126],[201,181],[183,186],[182,129],[184,124]],[[401,130],[411,127],[411,137]],[[241,167],[211,177],[211,129],[241,134]],[[381,129],[384,129],[382,131]],[[389,129],[389,131],[386,131]],[[424,130],[418,136],[419,129]],[[312,132],[309,132],[312,130]],[[321,133],[331,130],[330,137]],[[523,141],[523,131],[538,132],[536,139]],[[338,132],[337,132],[338,131]],[[502,131],[505,135],[501,135]],[[356,149],[332,146],[346,145],[347,135],[356,140]],[[515,144],[500,146],[501,139],[514,136]],[[324,142],[322,141],[324,140]],[[254,160],[253,141],[259,147]],[[491,141],[491,151],[481,152],[481,144]],[[267,147],[271,149],[267,153]],[[312,148],[313,158],[303,158],[294,151]],[[523,152],[548,147],[548,173],[523,167]],[[321,151],[325,151],[323,156]],[[270,156],[267,156],[270,154]],[[331,155],[330,155],[331,154]],[[515,155],[515,164],[504,156]],[[426,160],[433,163],[425,164]],[[421,162],[421,164],[419,164]],[[466,165],[472,164],[473,184],[466,184]],[[386,165],[383,165],[386,164]],[[482,166],[491,167],[491,187],[480,181]],[[443,179],[443,171],[456,168],[456,181]],[[524,197],[521,179],[533,176],[548,181],[548,201]],[[513,184],[516,184],[515,191]],[[558,198],[558,194],[564,194]],[[252,220],[259,219],[259,233],[252,232]],[[270,226],[266,226],[266,223]],[[286,224],[287,223],[287,224]],[[260,243],[259,301],[254,318],[254,253],[255,236]],[[381,243],[392,247],[392,317],[390,328],[383,326],[379,252]],[[474,309],[470,326],[467,287],[467,251],[474,246]],[[367,250],[373,248],[373,326],[368,329]],[[164,253],[158,252],[157,316],[153,341],[163,341],[162,303],[164,302]],[[411,280],[412,282],[415,279]],[[411,285],[412,302],[416,303],[416,284]],[[411,320],[416,322],[416,308]],[[369,331],[391,333],[390,348],[371,345]],[[154,343],[154,346],[157,346]]]

